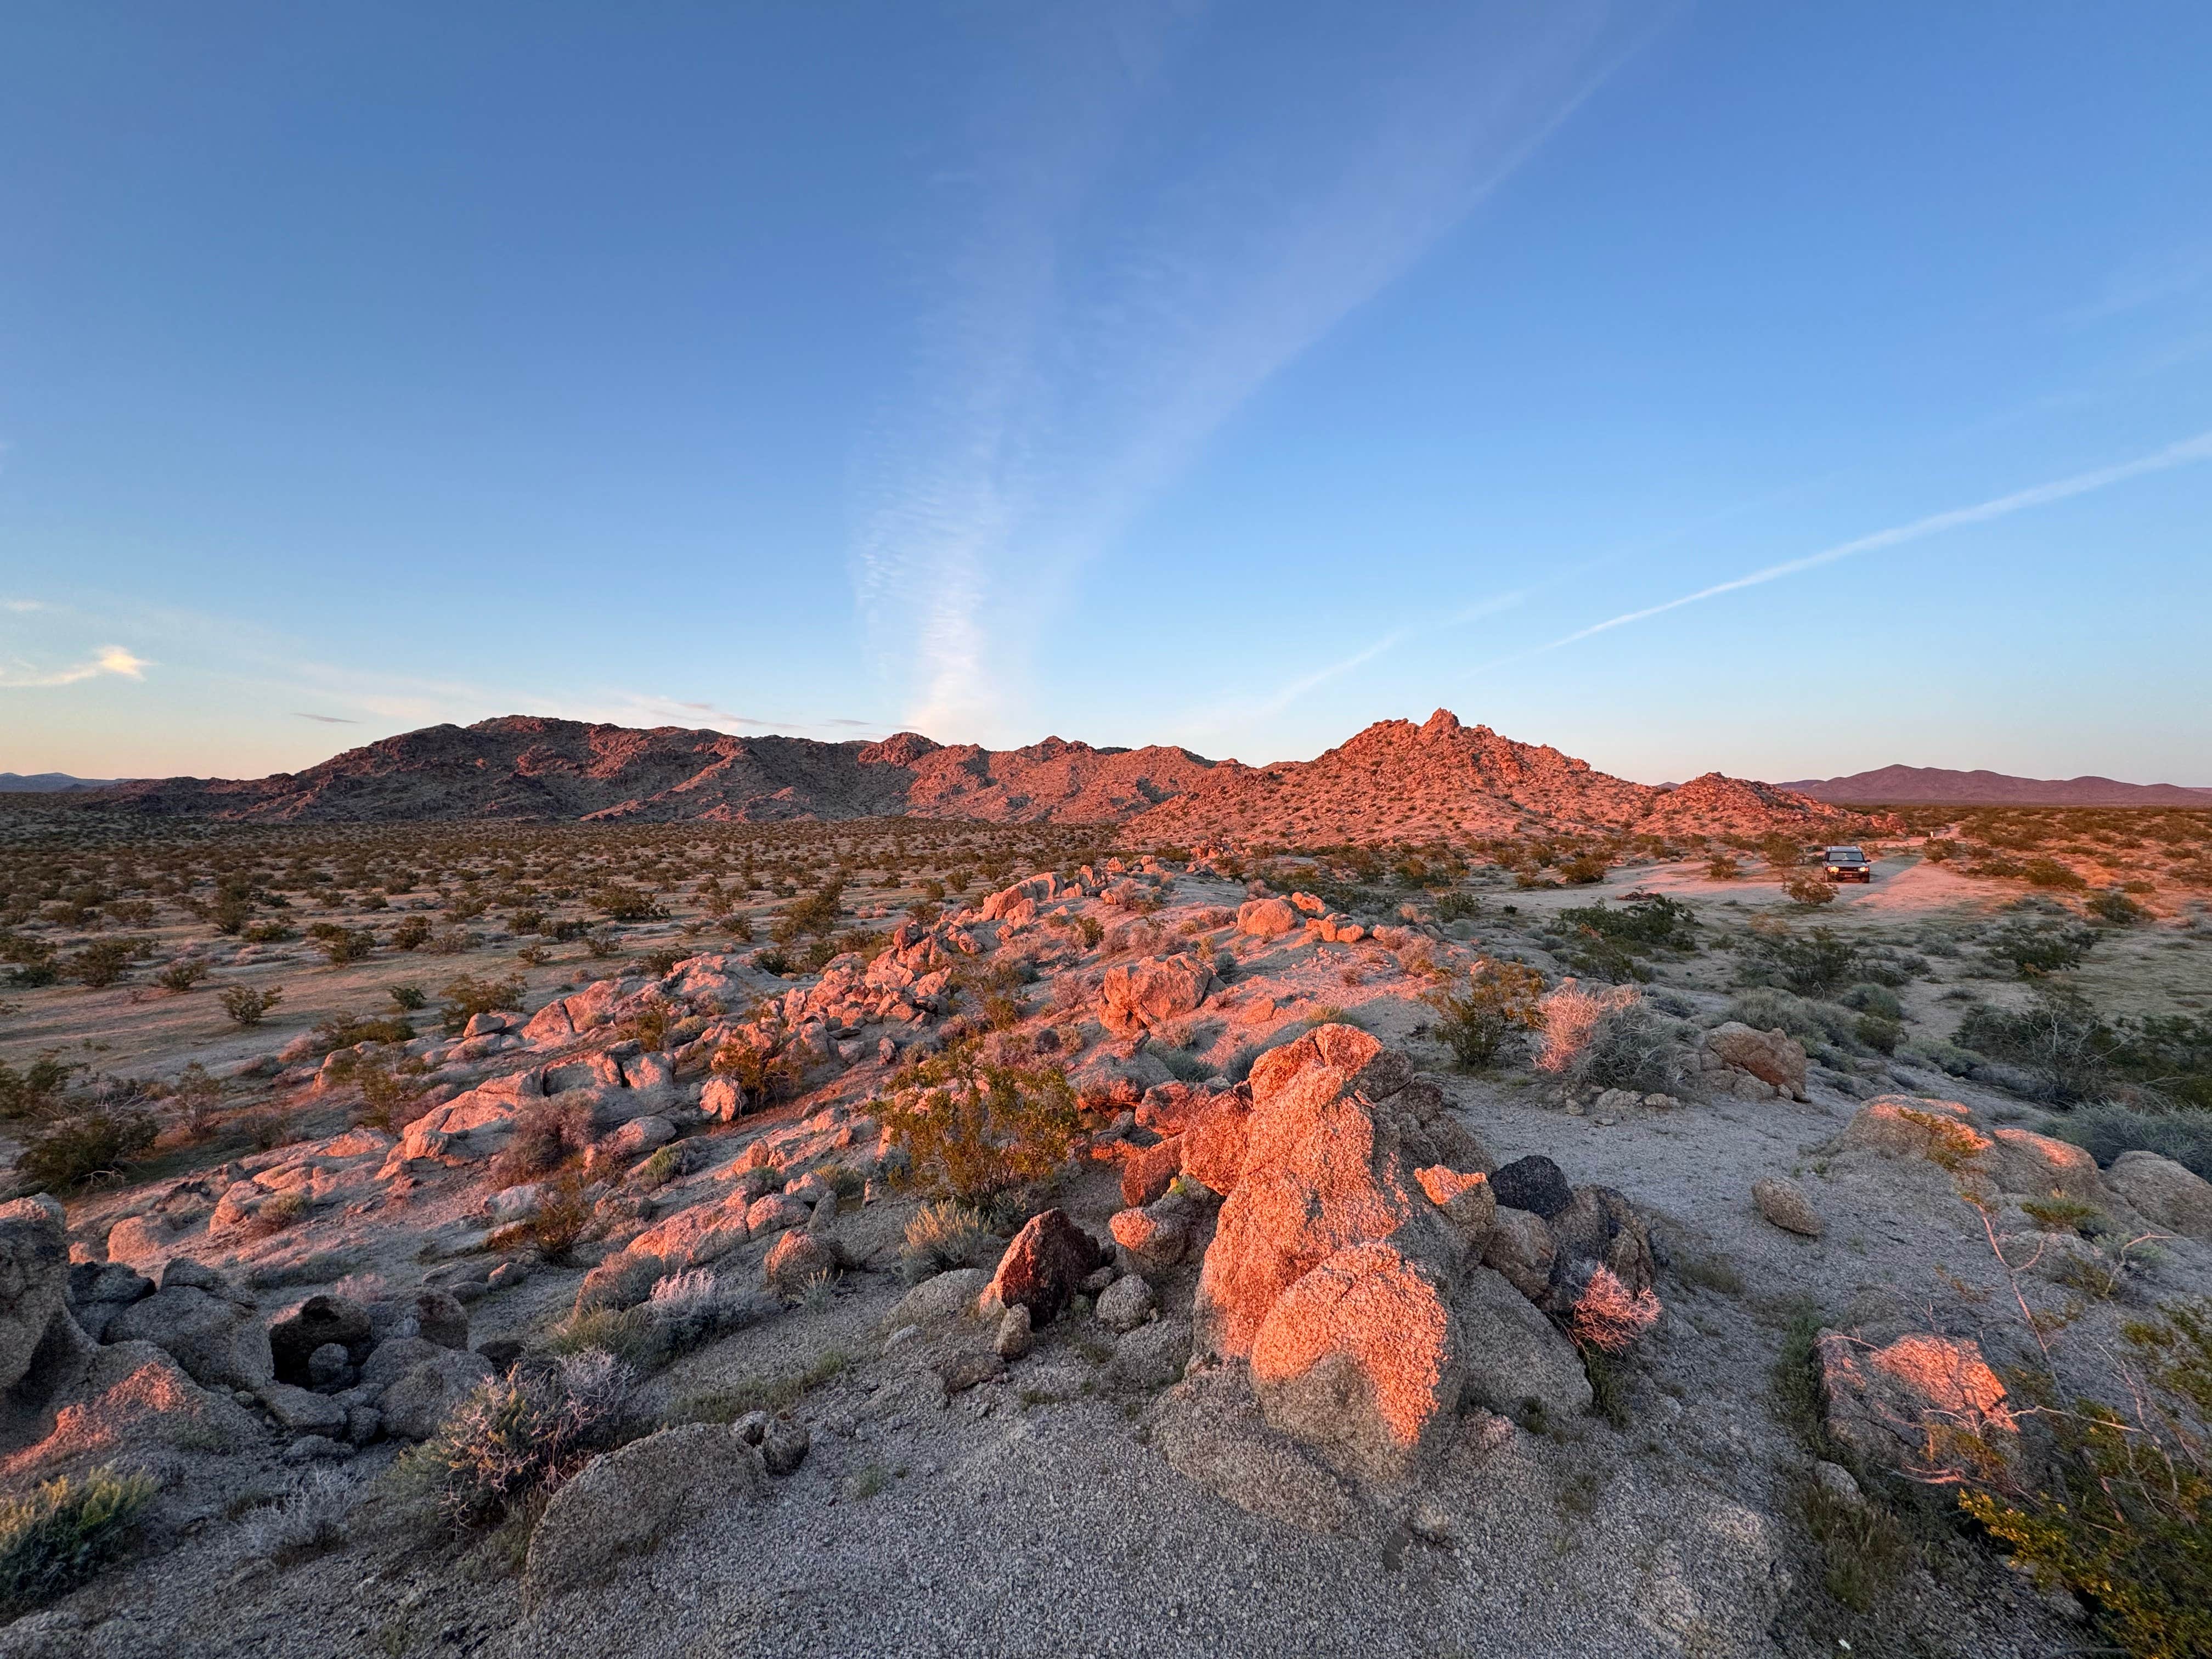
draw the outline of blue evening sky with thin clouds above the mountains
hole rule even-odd
[[[2208,84],[2203,4],[20,7],[0,770],[2212,783]]]

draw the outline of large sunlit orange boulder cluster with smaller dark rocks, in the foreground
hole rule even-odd
[[[1172,1128],[1161,1146],[1186,1181],[1113,1219],[1124,1254],[1157,1270],[1164,1237],[1199,1232],[1164,1208],[1221,1197],[1190,1376],[1155,1409],[1155,1442],[1259,1513],[1327,1526],[1352,1493],[1418,1480],[1469,1396],[1584,1409],[1579,1356],[1546,1312],[1657,1316],[1626,1199],[1571,1188],[1548,1159],[1498,1170],[1442,1091],[1354,1026],[1261,1055],[1248,1091],[1188,1104]]]

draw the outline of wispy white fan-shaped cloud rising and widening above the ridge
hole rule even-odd
[[[1378,73],[1290,88],[1294,153],[1221,137],[1166,181],[1128,157],[1199,119],[1206,77],[1177,82],[1190,24],[1046,31],[1026,97],[980,115],[984,153],[945,173],[940,301],[854,465],[856,597],[914,726],[1004,734],[1068,577],[1644,38],[1597,4],[1500,15],[1455,11]]]

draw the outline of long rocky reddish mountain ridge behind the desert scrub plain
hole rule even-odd
[[[1183,748],[1020,750],[730,737],[509,714],[431,726],[265,779],[139,779],[88,810],[257,823],[982,818],[1128,823],[1155,843],[1425,841],[1513,834],[1763,834],[1856,823],[1708,772],[1655,790],[1438,710],[1378,721],[1312,761],[1250,768]]]

